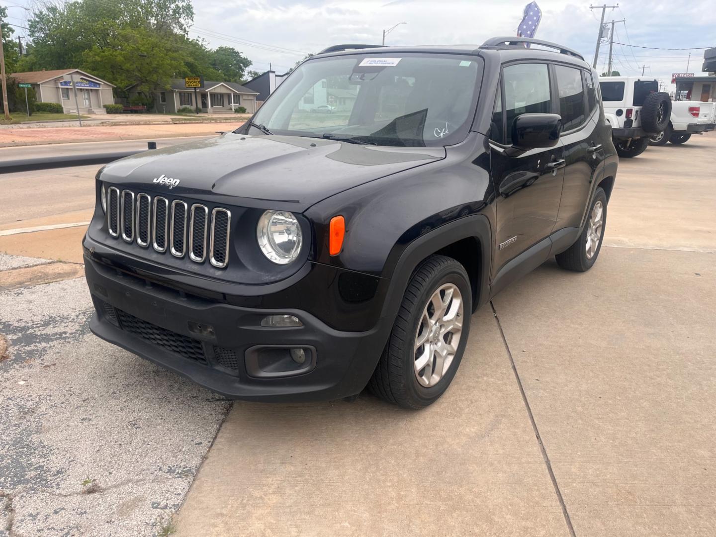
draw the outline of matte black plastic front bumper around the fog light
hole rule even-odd
[[[89,328],[97,336],[188,377],[210,390],[242,400],[330,400],[359,393],[367,384],[392,323],[365,332],[343,332],[298,309],[255,309],[211,301],[153,284],[85,256],[95,302]],[[291,314],[304,326],[266,328],[269,314]],[[197,333],[196,324],[211,326]],[[193,329],[192,329],[193,328]],[[256,378],[246,353],[257,346],[309,347],[315,363],[295,376]]]

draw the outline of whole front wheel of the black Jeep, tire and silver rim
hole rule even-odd
[[[443,294],[448,289],[453,298]],[[455,300],[455,291],[458,291],[460,301]],[[431,301],[436,293],[439,300],[447,304],[444,314]],[[388,342],[368,382],[369,390],[387,402],[413,410],[435,402],[448,389],[463,359],[472,311],[472,291],[465,268],[447,256],[434,255],[422,261],[405,290]],[[442,332],[440,322],[431,324],[433,319],[445,321],[445,317],[450,317],[448,323],[462,319],[458,332]],[[438,326],[438,329],[431,326]],[[426,337],[416,349],[418,339]],[[456,345],[455,337],[458,337]],[[441,349],[445,354],[440,354]],[[420,356],[416,359],[417,355]],[[432,364],[425,358],[427,356],[432,359]],[[420,364],[416,365],[416,362],[422,362],[421,359],[427,360],[427,364],[417,371]],[[435,362],[447,362],[442,374],[437,371]]]

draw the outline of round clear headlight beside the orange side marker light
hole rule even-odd
[[[270,261],[285,265],[301,252],[301,226],[288,211],[266,211],[258,219],[258,246]]]

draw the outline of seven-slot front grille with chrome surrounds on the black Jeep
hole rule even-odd
[[[127,243],[155,251],[167,250],[194,263],[209,262],[218,269],[228,265],[231,211],[210,209],[202,203],[169,200],[132,190],[107,188],[107,231]]]

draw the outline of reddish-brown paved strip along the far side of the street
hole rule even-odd
[[[178,136],[213,135],[218,130],[231,131],[243,125],[243,118],[226,122],[181,122],[144,125],[102,125],[84,127],[35,127],[0,129],[0,147],[18,145],[103,142],[107,140],[140,140]]]

